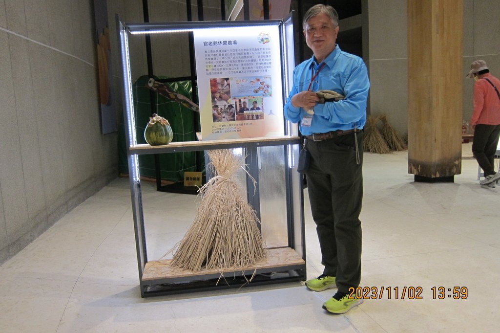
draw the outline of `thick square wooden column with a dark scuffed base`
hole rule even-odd
[[[407,0],[408,173],[461,173],[462,0]]]

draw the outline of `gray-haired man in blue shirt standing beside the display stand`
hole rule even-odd
[[[323,308],[344,313],[362,301],[349,294],[361,277],[362,129],[369,81],[363,61],[335,44],[338,15],[331,6],[311,7],[302,27],[314,56],[293,71],[283,112],[287,120],[300,122],[310,154],[304,173],[324,270],[306,286],[314,291],[336,287]],[[318,104],[318,90],[345,98]]]

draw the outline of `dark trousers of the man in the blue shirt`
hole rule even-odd
[[[339,292],[357,287],[361,278],[363,133],[356,136],[359,164],[356,164],[353,133],[306,143],[311,159],[305,177],[323,274],[335,276]]]

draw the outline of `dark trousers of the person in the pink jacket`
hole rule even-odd
[[[484,172],[484,177],[495,173],[494,155],[498,146],[498,136],[500,136],[500,125],[475,125],[472,154]]]

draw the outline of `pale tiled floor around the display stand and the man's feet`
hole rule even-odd
[[[361,284],[378,293],[390,286],[391,299],[385,290],[381,299],[330,315],[321,304],[333,291],[298,282],[141,298],[128,180],[116,179],[0,266],[0,332],[498,331],[500,186],[478,185],[470,144],[462,146],[454,183],[413,182],[406,152],[365,154]],[[170,216],[185,221],[155,237],[171,243],[194,212],[181,208],[178,195],[143,183],[153,223],[163,221],[154,205],[166,195],[177,207]],[[305,218],[311,277],[322,268],[309,210]],[[164,253],[162,243],[148,246]],[[394,287],[400,295],[404,286],[421,287],[422,299],[395,299]],[[463,286],[468,297],[448,298],[446,290],[433,299],[433,286]]]

